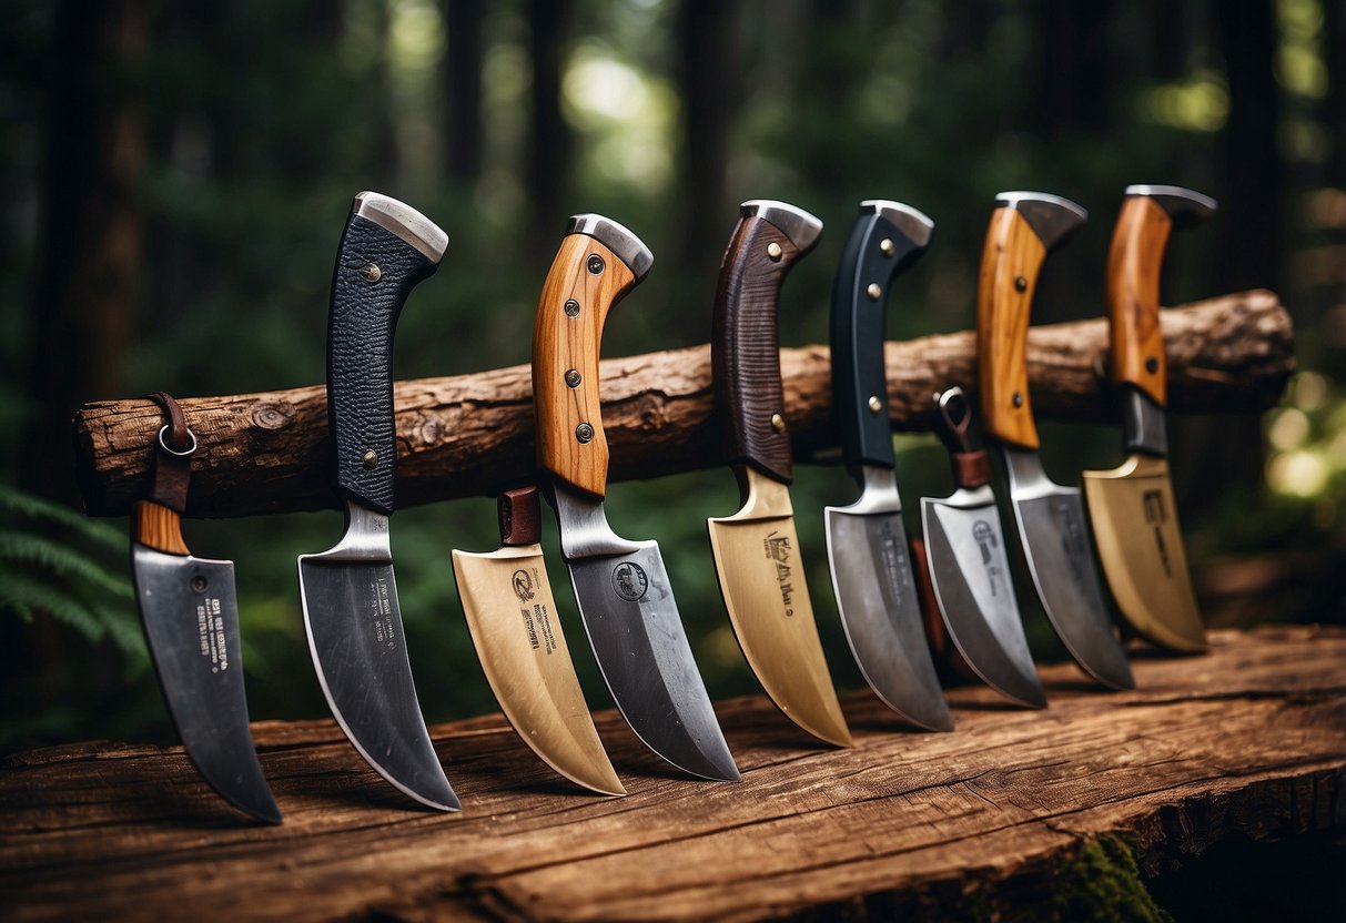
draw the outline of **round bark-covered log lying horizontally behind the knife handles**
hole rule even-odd
[[[1170,409],[1256,412],[1273,406],[1295,367],[1289,315],[1265,291],[1166,311]],[[977,393],[975,334],[887,343],[890,416],[927,429],[930,396]],[[1034,327],[1032,405],[1042,417],[1109,418],[1102,319]],[[829,353],[781,351],[795,457],[837,445]],[[724,463],[713,420],[709,346],[602,363],[610,480],[657,478]],[[533,478],[528,366],[397,382],[397,505],[495,494]],[[182,401],[199,449],[187,514],[238,517],[331,507],[327,402],[322,386]],[[160,427],[149,401],[100,401],[75,414],[79,486],[90,515],[122,515],[145,491]]]

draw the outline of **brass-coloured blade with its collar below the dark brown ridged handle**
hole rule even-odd
[[[747,468],[747,501],[709,519],[715,569],[743,655],[786,717],[837,747],[851,731],[832,686],[813,619],[790,494]]]

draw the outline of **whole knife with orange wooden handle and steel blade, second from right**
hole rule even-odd
[[[1004,451],[1019,540],[1047,618],[1094,679],[1133,689],[1098,581],[1079,490],[1053,483],[1043,471],[1028,402],[1024,350],[1038,272],[1085,218],[1074,202],[1044,192],[996,196],[977,292],[981,412]]]

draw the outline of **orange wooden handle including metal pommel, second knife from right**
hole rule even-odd
[[[1046,192],[996,196],[977,284],[977,366],[987,431],[1010,445],[1038,448],[1024,359],[1038,273],[1086,217],[1074,202]]]

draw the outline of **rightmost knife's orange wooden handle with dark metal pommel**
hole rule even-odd
[[[1168,397],[1168,362],[1159,327],[1159,274],[1168,233],[1207,221],[1215,200],[1178,186],[1128,186],[1108,249],[1112,379],[1133,385],[1159,406]]]

